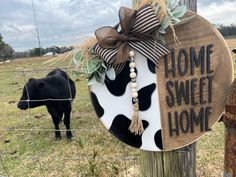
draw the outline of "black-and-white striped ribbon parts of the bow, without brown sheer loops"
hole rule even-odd
[[[132,33],[139,34],[151,34],[156,31],[160,26],[160,22],[155,15],[155,12],[151,5],[146,5],[137,11],[135,22],[130,31]],[[144,55],[147,59],[152,61],[156,67],[158,67],[159,60],[162,56],[169,53],[169,48],[154,39],[143,41],[129,41],[128,45]],[[118,48],[106,49],[96,44],[94,51],[101,56],[108,64],[112,65],[115,61]],[[124,67],[124,63],[118,65],[112,65],[116,73],[120,73]]]

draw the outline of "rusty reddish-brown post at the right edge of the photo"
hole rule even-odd
[[[225,112],[224,177],[236,177],[236,79],[231,86]]]

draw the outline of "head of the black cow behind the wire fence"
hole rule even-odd
[[[43,105],[42,99],[45,98],[45,92],[43,91],[44,87],[44,81],[30,78],[24,86],[23,93],[17,107],[21,110],[26,110],[27,108],[35,108]]]

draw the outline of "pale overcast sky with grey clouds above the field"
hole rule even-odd
[[[131,0],[34,0],[42,47],[78,44],[118,22]],[[236,24],[236,0],[198,0],[198,13],[215,24]],[[38,47],[31,0],[0,0],[0,33],[16,51]]]

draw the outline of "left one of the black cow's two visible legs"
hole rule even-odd
[[[55,109],[55,108],[48,108],[48,112],[52,116],[52,121],[53,121],[54,126],[55,126],[55,138],[57,140],[60,140],[61,139],[61,131],[60,131],[60,128],[59,128],[59,124],[60,124],[60,121],[62,119],[63,113],[58,111],[58,109]]]

